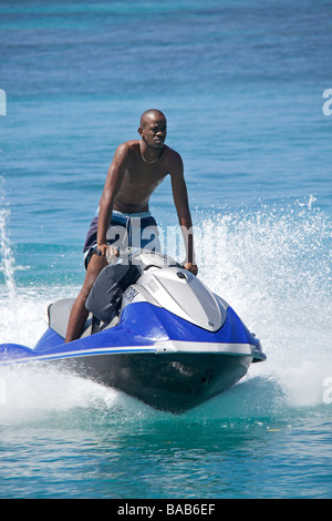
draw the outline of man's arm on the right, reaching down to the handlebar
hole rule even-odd
[[[176,157],[173,161],[170,180],[174,204],[177,211],[178,222],[186,247],[186,260],[184,266],[186,269],[194,273],[194,275],[197,275],[198,268],[195,263],[193,222],[188,204],[187,186],[184,176],[184,164],[179,154],[176,154]]]

